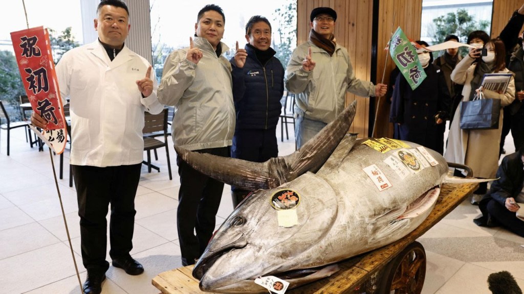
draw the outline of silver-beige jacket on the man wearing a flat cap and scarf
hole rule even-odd
[[[316,63],[310,71],[302,61],[311,47]],[[355,77],[347,49],[336,44],[332,56],[308,41],[298,46],[287,66],[286,88],[296,96],[295,111],[305,118],[329,123],[344,110],[346,91],[362,97],[375,96],[375,85]]]

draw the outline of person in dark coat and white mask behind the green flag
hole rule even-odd
[[[444,74],[433,65],[433,55],[424,48],[428,43],[417,41],[418,59],[426,78],[414,90],[399,74],[391,98],[389,121],[395,126],[395,139],[406,140],[433,149],[444,149],[445,121],[449,119],[451,98]]]

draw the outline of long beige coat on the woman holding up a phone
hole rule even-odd
[[[457,84],[464,84],[462,101],[470,100],[471,81],[475,66],[474,59],[466,55],[457,63],[451,73],[451,80]],[[508,69],[500,73],[508,73]],[[474,90],[473,90],[474,91]],[[507,106],[515,100],[515,81],[511,78],[506,93],[498,94],[484,90],[485,98],[500,99],[501,106]],[[498,152],[500,133],[502,132],[503,110],[500,109],[499,128],[494,130],[462,130],[460,128],[460,107],[457,107],[444,157],[447,162],[465,164],[473,169],[473,176],[481,178],[494,178],[498,168]]]

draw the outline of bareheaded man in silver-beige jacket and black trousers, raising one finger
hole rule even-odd
[[[174,106],[174,145],[228,157],[235,107],[231,64],[222,55],[229,50],[221,42],[224,23],[219,6],[206,5],[200,10],[189,48],[173,51],[166,59],[158,99]],[[195,263],[211,239],[224,184],[195,171],[180,156],[177,165],[177,228],[182,265],[187,266]]]

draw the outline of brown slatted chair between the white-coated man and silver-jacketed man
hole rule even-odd
[[[158,172],[160,172],[160,168],[158,166],[155,166],[151,164],[151,150],[156,151],[157,148],[165,147],[166,148],[166,157],[167,157],[167,168],[169,171],[169,179],[173,179],[171,175],[171,162],[169,160],[169,146],[168,146],[168,140],[167,140],[167,130],[168,130],[168,114],[169,110],[167,108],[164,108],[160,114],[152,115],[149,112],[145,112],[144,115],[144,129],[142,132],[144,133],[144,151],[147,151],[147,162],[143,161],[142,163],[147,165],[147,171],[150,173],[151,168],[156,169]],[[162,132],[164,140],[163,142],[155,139],[154,137],[150,137],[150,134]],[[155,136],[158,137],[158,136]],[[158,160],[158,157],[156,157]]]

